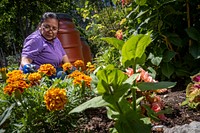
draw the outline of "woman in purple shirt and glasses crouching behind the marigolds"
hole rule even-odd
[[[52,64],[58,68],[61,63],[69,62],[61,42],[57,38],[59,20],[55,13],[43,14],[38,30],[24,41],[20,69],[29,73],[42,64]]]

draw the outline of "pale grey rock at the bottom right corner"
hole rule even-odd
[[[200,122],[193,121],[190,124],[172,128],[164,127],[164,133],[200,133]]]

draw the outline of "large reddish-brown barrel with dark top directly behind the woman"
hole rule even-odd
[[[69,61],[84,60],[80,33],[76,29],[72,19],[65,13],[57,13],[59,21],[58,39],[61,41]]]

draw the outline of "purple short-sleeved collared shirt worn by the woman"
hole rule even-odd
[[[41,35],[39,30],[25,39],[21,54],[22,57],[32,59],[32,64],[35,64],[37,69],[42,64],[52,64],[54,67],[58,67],[62,63],[64,55],[66,53],[60,40],[55,38],[52,44]]]

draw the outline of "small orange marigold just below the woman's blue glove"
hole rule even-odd
[[[38,84],[41,79],[42,79],[42,76],[38,72],[30,73],[28,75],[28,80],[30,81],[31,85]]]

